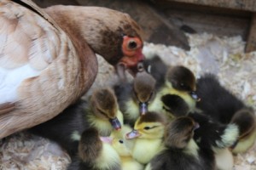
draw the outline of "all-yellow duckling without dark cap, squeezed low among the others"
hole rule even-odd
[[[113,149],[116,150],[120,156],[120,160],[122,162],[122,170],[143,170],[143,164],[139,163],[131,156],[131,150],[129,149],[129,146],[131,144],[129,144],[129,141],[124,138],[124,134],[131,132],[131,130],[131,127],[127,127],[126,125],[124,125],[124,127],[122,127],[121,129],[122,132],[113,131],[113,133],[111,134],[111,137],[113,137],[112,146]]]

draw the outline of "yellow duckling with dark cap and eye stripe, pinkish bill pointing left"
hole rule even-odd
[[[132,157],[142,163],[148,163],[160,150],[163,149],[166,117],[159,113],[148,111],[140,116],[125,139],[132,140]]]

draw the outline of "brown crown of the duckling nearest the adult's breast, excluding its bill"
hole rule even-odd
[[[101,113],[111,119],[114,119],[117,116],[117,99],[111,89],[101,88],[96,90],[91,95],[90,100],[94,112]]]

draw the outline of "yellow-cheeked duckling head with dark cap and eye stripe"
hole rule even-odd
[[[166,118],[160,113],[148,111],[135,122],[130,133],[126,133],[126,139],[161,139],[165,132]]]

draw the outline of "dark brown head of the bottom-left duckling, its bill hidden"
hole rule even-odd
[[[101,151],[102,141],[96,128],[84,130],[79,141],[79,157],[85,162],[93,162]]]

